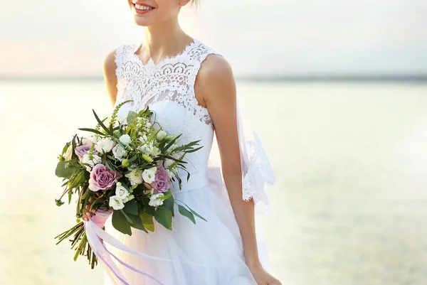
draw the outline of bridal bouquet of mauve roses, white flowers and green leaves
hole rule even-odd
[[[195,217],[204,220],[184,203],[174,200],[171,189],[181,189],[178,171],[186,171],[186,154],[201,149],[199,141],[177,146],[179,136],[168,135],[156,122],[147,108],[139,113],[129,112],[124,124],[117,115],[122,102],[110,117],[101,120],[95,111],[97,126],[86,137],[73,136],[65,144],[59,156],[56,176],[63,178],[65,190],[56,200],[68,195],[68,203],[77,197],[76,217],[78,224],[58,235],[58,243],[71,237],[71,248],[78,255],[86,255],[94,268],[97,256],[88,244],[85,225],[80,218],[90,208],[91,220],[99,227],[112,215],[112,225],[126,235],[132,235],[132,228],[144,232],[154,231],[154,220],[172,230],[174,204],[179,214],[192,222]],[[176,183],[173,183],[176,182]],[[57,244],[58,244],[57,243]]]

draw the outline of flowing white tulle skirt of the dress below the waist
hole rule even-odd
[[[216,168],[210,168],[206,177],[206,183],[190,178],[194,183],[176,191],[174,197],[189,205],[207,222],[196,217],[194,225],[176,208],[172,231],[154,221],[154,232],[147,234],[132,228],[132,236],[129,236],[117,232],[111,225],[111,219],[105,225],[110,235],[128,247],[174,262],[136,257],[107,248],[123,262],[154,276],[164,285],[256,285],[245,263],[241,235],[228,195],[222,187],[221,174]],[[258,251],[261,262],[266,266],[265,244],[260,240]],[[130,285],[159,284],[121,264],[117,266]],[[105,274],[105,284],[116,283]]]

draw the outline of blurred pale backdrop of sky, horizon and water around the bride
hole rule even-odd
[[[0,284],[102,284],[57,208],[63,142],[110,109],[101,63],[143,31],[122,1],[0,0]],[[181,25],[221,51],[277,182],[284,285],[427,284],[427,2],[201,0]],[[89,125],[88,125],[89,122]],[[192,285],[192,284],[189,284]]]

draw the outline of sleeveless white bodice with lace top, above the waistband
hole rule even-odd
[[[194,82],[204,59],[219,53],[194,39],[179,55],[155,65],[152,59],[142,63],[135,54],[139,46],[122,45],[116,50],[115,104],[133,100],[120,109],[120,115],[125,117],[130,110],[138,112],[148,106],[164,131],[182,134],[180,144],[200,141],[204,148],[187,155],[187,170],[191,173],[206,170],[214,127],[208,110],[196,100]]]

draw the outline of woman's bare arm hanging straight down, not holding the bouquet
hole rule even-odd
[[[221,56],[209,55],[196,77],[195,91],[196,99],[199,104],[208,108],[215,126],[223,178],[241,232],[246,264],[258,284],[279,285],[280,281],[261,267],[255,236],[254,203],[253,200],[245,201],[242,197],[236,83],[228,62]]]

